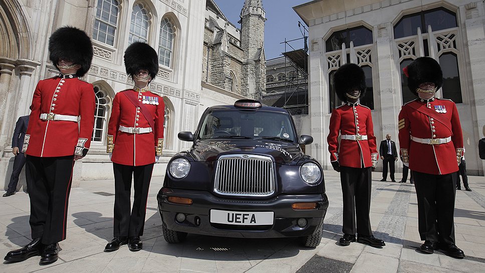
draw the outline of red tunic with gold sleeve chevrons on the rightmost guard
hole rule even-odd
[[[451,137],[451,141],[430,145],[412,141],[411,137],[430,141]],[[455,103],[431,98],[404,104],[399,112],[399,145],[403,163],[413,171],[436,175],[458,171],[463,136]]]

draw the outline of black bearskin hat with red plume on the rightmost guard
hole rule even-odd
[[[443,72],[438,62],[433,58],[419,57],[403,70],[407,76],[407,87],[416,96],[418,95],[416,89],[421,83],[432,82],[436,85],[436,89],[443,85]]]

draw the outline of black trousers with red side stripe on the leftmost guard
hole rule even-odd
[[[32,238],[42,237],[43,244],[60,242],[66,239],[74,156],[27,156],[26,164]]]

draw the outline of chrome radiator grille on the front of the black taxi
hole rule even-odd
[[[215,169],[214,191],[232,196],[270,196],[275,192],[271,158],[256,155],[221,156]]]

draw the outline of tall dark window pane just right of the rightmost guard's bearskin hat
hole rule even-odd
[[[455,103],[462,103],[458,60],[454,53],[444,53],[439,57],[439,65],[443,71],[443,98],[449,98]]]

